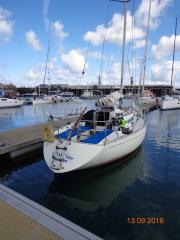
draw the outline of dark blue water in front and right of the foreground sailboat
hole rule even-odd
[[[64,183],[39,159],[1,172],[0,181],[104,239],[179,240],[180,110],[146,118],[145,141],[123,165]],[[165,224],[128,224],[128,217]]]

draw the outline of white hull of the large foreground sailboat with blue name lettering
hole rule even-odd
[[[82,170],[98,167],[120,160],[135,151],[143,142],[146,133],[146,124],[141,121],[142,128],[138,131],[115,139],[109,143],[87,144],[81,142],[59,140],[54,143],[44,143],[44,158],[48,167],[55,173],[66,173],[74,170]],[[57,148],[66,150],[57,150]],[[53,153],[57,152],[59,159],[53,159]],[[54,164],[55,163],[55,164]],[[53,165],[54,164],[54,165]]]

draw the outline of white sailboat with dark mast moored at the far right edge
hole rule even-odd
[[[177,17],[175,23],[175,34],[174,34],[174,47],[173,47],[173,61],[172,61],[172,69],[171,69],[171,90],[170,96],[164,96],[161,102],[161,110],[173,110],[173,109],[180,109],[180,96],[173,97],[173,75],[174,75],[174,57],[175,57],[175,50],[176,50],[176,35],[177,35]],[[176,91],[178,92],[178,91]]]

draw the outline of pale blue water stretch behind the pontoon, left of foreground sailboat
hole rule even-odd
[[[47,121],[48,114],[66,116],[87,106],[94,107],[95,100],[56,104],[25,105],[21,108],[0,109],[0,131],[29,126]]]

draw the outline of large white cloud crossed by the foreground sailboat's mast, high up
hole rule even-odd
[[[124,17],[121,14],[115,13],[112,20],[108,23],[106,29],[106,42],[115,43],[122,45],[123,42],[123,22]],[[90,41],[93,45],[99,45],[104,41],[105,26],[99,25],[95,32],[88,31],[84,35],[86,41]],[[134,39],[141,39],[145,36],[145,32],[135,26],[134,27]],[[130,12],[127,13],[127,31],[126,31],[126,41],[131,41],[132,39],[132,16]]]

